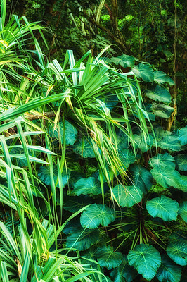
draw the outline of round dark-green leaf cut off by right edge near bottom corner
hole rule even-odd
[[[179,240],[169,243],[167,246],[167,255],[179,265],[187,264],[187,242]]]

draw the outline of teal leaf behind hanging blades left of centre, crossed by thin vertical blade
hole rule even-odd
[[[58,127],[53,130],[53,126],[49,127],[49,136],[59,139],[63,143],[63,122],[60,121]],[[73,145],[77,140],[77,129],[68,121],[65,121],[65,144]]]

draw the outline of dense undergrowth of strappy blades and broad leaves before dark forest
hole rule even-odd
[[[105,50],[49,62],[42,28],[6,25],[2,3],[1,281],[186,281],[187,128],[162,127],[173,80]]]

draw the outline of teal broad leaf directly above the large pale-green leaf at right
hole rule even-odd
[[[157,154],[157,156],[150,158],[149,160],[150,166],[167,166],[169,168],[172,168],[172,170],[175,168],[175,161],[174,157],[172,157],[170,154]]]

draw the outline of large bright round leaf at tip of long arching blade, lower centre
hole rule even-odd
[[[82,227],[89,229],[97,228],[100,224],[108,226],[112,221],[115,221],[115,211],[105,204],[91,204],[84,209],[80,218]]]

